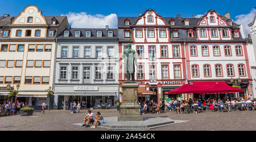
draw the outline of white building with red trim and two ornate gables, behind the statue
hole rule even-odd
[[[157,97],[150,99],[160,101],[185,81],[232,85],[232,79],[235,82],[238,78],[245,90],[240,96],[250,94],[246,40],[239,26],[214,10],[201,18],[181,18],[180,14],[163,18],[152,9],[138,17],[119,17],[119,91],[125,81],[122,52],[130,43],[138,54],[135,81],[157,92]]]

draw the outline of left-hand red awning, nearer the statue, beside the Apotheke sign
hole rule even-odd
[[[183,93],[208,93],[201,87],[196,87],[191,84],[184,84],[181,87],[169,91],[168,94],[183,94]]]

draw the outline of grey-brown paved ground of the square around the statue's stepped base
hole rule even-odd
[[[104,117],[117,117],[117,109],[92,110],[100,111]],[[0,130],[77,130],[97,131],[105,128],[90,128],[74,125],[82,123],[88,110],[80,110],[81,113],[71,114],[69,110],[46,110],[45,114],[35,111],[32,116],[12,115],[0,117]],[[176,114],[168,111],[160,114],[143,114],[145,117],[168,117],[170,119],[187,121],[175,123],[150,130],[256,130],[256,111],[232,111],[227,113],[205,111],[204,113]]]

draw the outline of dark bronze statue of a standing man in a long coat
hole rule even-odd
[[[123,51],[123,59],[125,60],[124,72],[127,73],[126,83],[130,83],[130,74],[133,83],[135,82],[134,72],[135,66],[137,66],[137,56],[135,50],[131,49],[131,44],[126,45],[127,49]]]

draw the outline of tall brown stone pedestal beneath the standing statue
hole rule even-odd
[[[138,104],[137,83],[124,83],[123,104],[120,106],[118,121],[143,121],[141,106]]]

